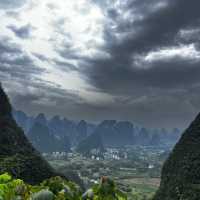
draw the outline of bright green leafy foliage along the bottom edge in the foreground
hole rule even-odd
[[[126,200],[115,183],[103,178],[83,195],[79,186],[61,177],[53,177],[37,186],[13,179],[8,173],[0,175],[0,200]]]

